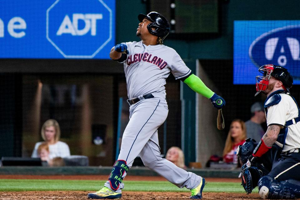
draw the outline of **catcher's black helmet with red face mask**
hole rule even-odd
[[[289,89],[293,85],[293,77],[291,74],[287,71],[286,68],[282,66],[276,66],[272,64],[263,65],[258,69],[259,72],[263,74],[263,76],[256,76],[256,95],[260,93],[261,91],[266,91],[267,86],[269,85],[269,81],[271,76],[274,78],[280,80],[282,82],[283,89],[286,92],[290,92]]]

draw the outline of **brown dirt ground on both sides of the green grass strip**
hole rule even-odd
[[[31,176],[31,175],[1,175],[2,179],[67,179],[67,180],[105,180],[107,176],[103,175],[55,175],[55,176]],[[126,180],[142,180],[145,177],[126,176]],[[147,177],[147,180],[164,181],[163,177]],[[240,182],[240,179],[234,178],[206,178],[207,182]],[[87,199],[87,194],[94,191],[31,191],[31,192],[0,192],[0,200],[82,200]],[[189,199],[190,193],[185,192],[127,192],[122,194],[122,200],[183,200]],[[203,193],[203,200],[252,200],[261,199],[257,193]]]

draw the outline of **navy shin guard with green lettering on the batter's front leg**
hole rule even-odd
[[[113,190],[117,190],[122,183],[123,178],[126,176],[129,167],[124,160],[117,160],[114,165],[112,172],[109,174],[108,181],[110,183],[110,187]]]

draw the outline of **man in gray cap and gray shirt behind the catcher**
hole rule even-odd
[[[266,122],[265,109],[260,102],[256,102],[251,106],[251,118],[245,122],[247,129],[247,138],[255,139],[259,142],[265,131],[262,128],[262,123]]]

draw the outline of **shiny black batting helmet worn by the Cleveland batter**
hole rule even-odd
[[[151,23],[148,24],[148,31],[157,37],[161,37],[162,40],[167,37],[170,31],[170,25],[168,20],[158,12],[149,12],[147,15],[139,14],[138,20],[143,22],[143,19],[147,17]],[[154,28],[154,30],[152,30]]]

